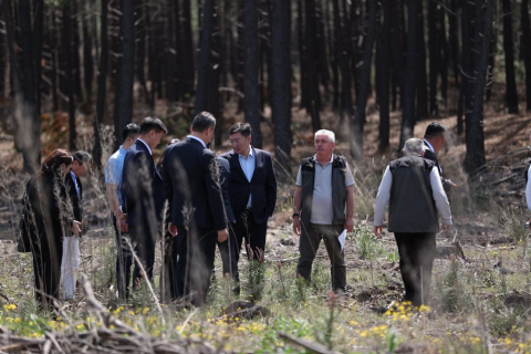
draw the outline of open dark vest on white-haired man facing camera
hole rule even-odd
[[[313,185],[315,181],[315,160],[313,157],[303,158],[301,165],[302,178],[302,209],[301,220],[309,225],[312,217]],[[332,207],[334,208],[334,225],[343,225],[346,219],[346,158],[334,155],[332,160]]]

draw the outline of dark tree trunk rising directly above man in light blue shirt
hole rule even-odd
[[[133,81],[135,70],[135,18],[134,2],[122,2],[122,19],[119,27],[121,52],[119,73],[118,73],[118,91],[116,92],[116,101],[118,108],[115,119],[115,135],[117,146],[122,140],[122,131],[133,118]]]

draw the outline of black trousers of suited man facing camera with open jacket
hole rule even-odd
[[[229,233],[231,235],[229,238],[232,242],[231,249],[233,250],[231,258],[231,274],[235,280],[239,281],[238,261],[240,260],[242,241],[246,240],[247,258],[250,260],[252,254],[252,259],[259,260],[260,253],[258,250],[261,250],[262,252],[266,250],[268,221],[260,223],[256,222],[252,210],[247,209],[236,218],[236,223],[230,225]],[[252,251],[250,251],[249,248]]]

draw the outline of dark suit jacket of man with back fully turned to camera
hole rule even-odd
[[[227,228],[216,155],[187,137],[164,152],[164,190],[171,223],[222,230]]]

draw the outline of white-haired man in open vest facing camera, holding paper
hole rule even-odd
[[[337,238],[354,227],[354,177],[346,158],[333,154],[333,132],[316,132],[314,145],[315,155],[302,159],[293,196],[293,231],[300,236],[301,253],[296,272],[311,280],[312,263],[323,239],[332,263],[332,289],[341,294],[346,287],[346,266]]]

